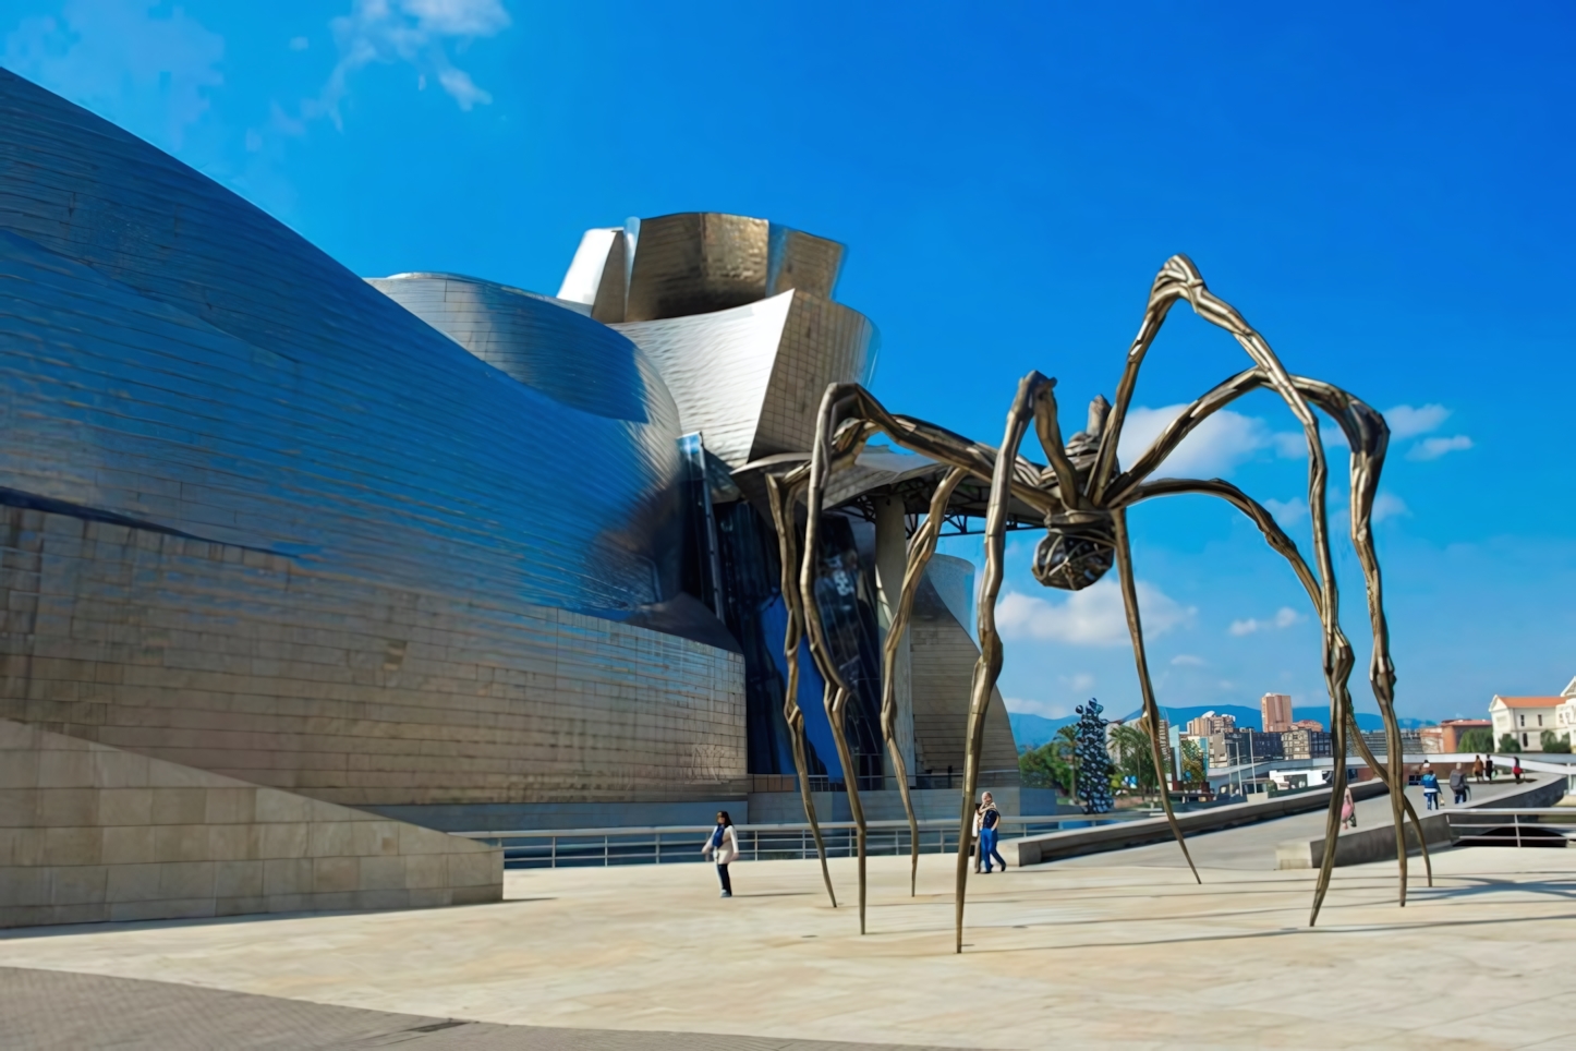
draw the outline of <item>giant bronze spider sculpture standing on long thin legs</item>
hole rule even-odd
[[[1144,362],[1150,344],[1160,332],[1166,314],[1179,299],[1187,299],[1199,317],[1231,332],[1248,353],[1248,358],[1253,359],[1253,367],[1228,378],[1188,405],[1132,466],[1122,470],[1116,459],[1116,449],[1128,403],[1133,397],[1133,388],[1138,381],[1138,370]],[[815,832],[816,848],[821,856],[821,873],[834,908],[837,898],[826,867],[826,848],[820,826],[816,824],[815,804],[805,778],[804,712],[797,704],[797,654],[801,637],[804,635],[826,682],[823,703],[832,725],[838,758],[845,771],[853,771],[851,752],[843,733],[846,704],[853,692],[829,652],[826,630],[815,600],[818,523],[829,479],[837,471],[853,466],[865,443],[878,433],[884,433],[895,444],[930,457],[947,468],[935,490],[930,514],[909,540],[908,567],[892,626],[887,632],[883,668],[881,730],[892,756],[898,788],[903,794],[903,805],[908,811],[911,834],[909,893],[914,892],[919,835],[913,800],[908,793],[908,772],[894,733],[897,720],[894,663],[900,638],[913,610],[914,594],[925,572],[925,564],[936,550],[947,501],[952,498],[957,485],[966,477],[990,484],[990,503],[985,517],[985,575],[979,600],[980,655],[976,663],[969,698],[963,800],[958,827],[955,893],[958,952],[963,950],[963,904],[969,871],[968,857],[974,794],[979,788],[979,766],[985,736],[985,712],[990,706],[1002,663],[1001,637],[996,632],[996,599],[1002,581],[1004,539],[1009,515],[1021,515],[1021,511],[1015,512],[1013,506],[1020,509],[1028,507],[1034,514],[1043,515],[1045,537],[1035,548],[1032,566],[1034,577],[1042,585],[1064,591],[1080,591],[1100,580],[1113,566],[1116,567],[1127,611],[1127,626],[1133,638],[1133,657],[1138,667],[1144,719],[1150,731],[1152,758],[1157,771],[1165,769],[1158,734],[1155,733],[1155,728],[1160,725],[1160,709],[1155,703],[1154,687],[1149,679],[1149,663],[1144,654],[1144,633],[1139,621],[1138,592],[1128,544],[1127,509],[1155,496],[1201,493],[1231,503],[1253,520],[1269,545],[1291,564],[1292,572],[1295,572],[1307,589],[1322,627],[1324,679],[1325,689],[1330,693],[1332,755],[1338,758],[1332,771],[1324,859],[1319,867],[1308,922],[1311,925],[1318,920],[1319,906],[1329,890],[1330,871],[1335,863],[1340,804],[1346,788],[1346,764],[1340,761],[1340,756],[1346,755],[1349,728],[1352,731],[1351,741],[1357,745],[1362,758],[1390,788],[1396,834],[1396,862],[1399,865],[1399,903],[1404,906],[1407,862],[1404,819],[1409,818],[1415,829],[1417,813],[1404,794],[1401,731],[1396,725],[1393,709],[1395,670],[1390,663],[1388,627],[1385,624],[1379,563],[1374,556],[1371,533],[1374,493],[1379,485],[1379,471],[1384,465],[1390,433],[1384,418],[1336,386],[1286,372],[1269,344],[1242,315],[1209,292],[1204,279],[1185,255],[1174,255],[1166,260],[1155,277],[1138,336],[1127,351],[1127,367],[1116,388],[1116,403],[1110,405],[1103,397],[1097,397],[1089,407],[1086,429],[1073,435],[1067,443],[1062,441],[1056,397],[1053,394],[1054,386],[1054,380],[1039,372],[1031,372],[1023,378],[1012,408],[1007,413],[1007,429],[1001,448],[993,449],[935,424],[909,416],[895,416],[859,384],[832,384],[821,400],[815,449],[810,462],[786,473],[766,477],[772,518],[782,545],[782,591],[788,605],[785,655],[788,659],[790,682],[785,717],[794,739],[794,763],[799,771],[805,816]],[[1297,545],[1280,528],[1273,515],[1236,485],[1221,479],[1166,477],[1149,481],[1150,474],[1195,427],[1212,413],[1220,411],[1236,399],[1259,388],[1272,389],[1286,402],[1302,424],[1303,435],[1307,436],[1308,511],[1313,520],[1316,569],[1310,569],[1308,563],[1299,553]],[[1357,550],[1368,591],[1368,616],[1374,643],[1370,662],[1370,682],[1373,684],[1374,698],[1379,701],[1379,711],[1384,719],[1388,766],[1379,764],[1363,742],[1362,734],[1357,733],[1352,714],[1349,679],[1354,659],[1352,648],[1341,632],[1338,618],[1338,594],[1330,558],[1325,501],[1329,468],[1314,408],[1322,410],[1340,424],[1351,446],[1352,544]],[[1031,425],[1050,460],[1048,466],[1040,466],[1018,455],[1018,448]],[[805,504],[802,555],[797,550],[797,503],[801,500]],[[857,829],[859,930],[864,933],[865,819],[854,778],[848,778],[846,791]],[[1171,808],[1171,800],[1165,791],[1160,793],[1160,799],[1177,845],[1188,862],[1188,868],[1193,871],[1193,878],[1198,879],[1198,868],[1188,854],[1187,841]],[[1415,830],[1418,832],[1415,837],[1417,841],[1423,843],[1420,829]],[[1423,860],[1425,867],[1429,868],[1431,884],[1433,871],[1428,863],[1426,846],[1423,849]]]

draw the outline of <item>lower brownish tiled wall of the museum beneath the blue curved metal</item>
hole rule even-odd
[[[345,805],[747,786],[742,659],[0,506],[0,719]]]

